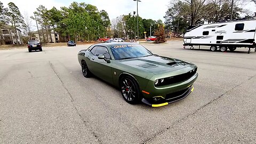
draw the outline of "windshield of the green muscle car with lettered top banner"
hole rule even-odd
[[[141,45],[113,45],[110,47],[110,50],[115,60],[147,57],[152,55],[151,52]]]

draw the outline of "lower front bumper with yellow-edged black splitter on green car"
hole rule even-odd
[[[167,98],[167,97],[163,98],[162,97],[161,100],[159,100],[157,102],[154,102],[154,100],[152,100],[152,99],[145,99],[145,98],[143,98],[142,102],[146,103],[147,105],[150,105],[152,107],[161,107],[161,106],[168,105],[171,102],[175,102],[175,101],[184,99],[193,91],[194,91],[194,86],[191,85],[191,86],[189,86],[185,90],[174,92],[174,93],[170,93],[171,97],[169,97],[169,98]],[[161,97],[161,96],[158,96],[158,97]]]

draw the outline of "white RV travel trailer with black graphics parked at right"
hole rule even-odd
[[[226,21],[188,27],[184,36],[184,46],[206,45],[211,51],[226,52],[236,50],[236,47],[255,48],[256,52],[256,19]]]

